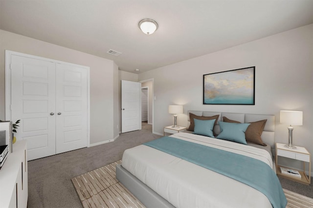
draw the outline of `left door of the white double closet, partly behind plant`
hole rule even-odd
[[[55,63],[11,56],[11,120],[28,160],[55,154]]]

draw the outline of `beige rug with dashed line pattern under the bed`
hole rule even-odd
[[[117,161],[72,178],[84,208],[145,208],[134,195],[115,178]],[[313,208],[313,199],[284,189],[286,208]]]

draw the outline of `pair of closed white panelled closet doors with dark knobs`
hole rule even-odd
[[[27,140],[28,160],[86,147],[87,70],[17,55],[10,68],[14,136]]]

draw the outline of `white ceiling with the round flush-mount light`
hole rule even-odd
[[[144,18],[158,23],[154,34],[138,28]],[[0,29],[110,59],[134,73],[311,23],[313,0],[0,0]],[[122,55],[107,54],[110,49]]]

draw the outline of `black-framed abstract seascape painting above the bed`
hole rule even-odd
[[[203,75],[203,104],[254,105],[255,66]]]

